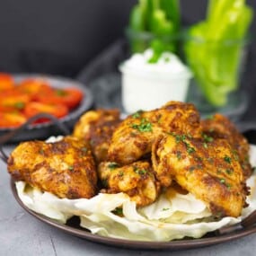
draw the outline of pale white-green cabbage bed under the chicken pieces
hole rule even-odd
[[[256,146],[251,146],[251,163],[256,166]],[[100,193],[92,199],[58,199],[49,192],[31,188],[23,181],[16,189],[23,204],[44,216],[65,224],[71,216],[79,216],[80,225],[93,234],[138,241],[171,241],[185,236],[199,238],[224,225],[234,225],[256,209],[256,173],[247,181],[251,195],[249,207],[242,216],[211,218],[203,201],[192,194],[172,191],[172,197],[163,193],[153,204],[137,209],[124,193]],[[116,209],[122,208],[121,215]]]

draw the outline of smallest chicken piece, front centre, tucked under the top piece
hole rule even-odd
[[[137,207],[149,205],[159,195],[159,182],[155,181],[150,163],[138,161],[119,167],[117,163],[102,162],[98,168],[99,178],[105,189],[102,192],[128,194]]]

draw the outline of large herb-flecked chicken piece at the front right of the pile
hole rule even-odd
[[[243,170],[225,139],[205,142],[185,135],[159,137],[153,146],[156,179],[176,181],[206,202],[216,216],[240,216],[247,190]]]

